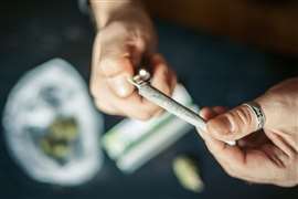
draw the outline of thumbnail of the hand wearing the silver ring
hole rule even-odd
[[[217,135],[226,135],[233,132],[233,126],[226,116],[219,116],[211,119],[207,126],[210,130]]]

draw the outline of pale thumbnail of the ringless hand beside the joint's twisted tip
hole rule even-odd
[[[134,91],[134,86],[127,82],[127,75],[118,75],[108,80],[111,88],[120,97],[126,97]]]

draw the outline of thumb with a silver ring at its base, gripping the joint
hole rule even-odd
[[[210,119],[207,132],[223,142],[237,140],[257,130],[257,118],[246,105],[240,105]]]

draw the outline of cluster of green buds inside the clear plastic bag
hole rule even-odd
[[[78,126],[73,117],[57,117],[40,140],[40,147],[56,160],[67,158],[73,151],[73,143],[78,137]]]

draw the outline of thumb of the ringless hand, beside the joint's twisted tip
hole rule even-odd
[[[102,30],[96,38],[94,65],[117,96],[127,97],[134,92],[127,78],[134,75],[145,48],[141,38],[130,39],[127,30],[118,23]]]

